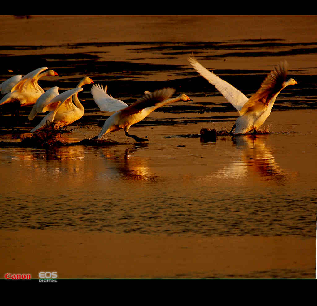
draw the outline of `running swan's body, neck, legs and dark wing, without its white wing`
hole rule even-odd
[[[134,140],[141,142],[147,139],[139,138],[136,135],[128,134],[129,128],[137,122],[143,120],[147,115],[151,114],[155,109],[168,103],[177,101],[192,101],[187,95],[180,94],[176,98],[170,98],[174,94],[174,88],[163,88],[152,93],[144,95],[130,106],[121,108],[121,110],[112,114],[106,121],[98,136],[101,139],[103,135],[124,129],[126,136],[132,137]],[[120,100],[119,100],[120,101]],[[122,102],[122,101],[121,101]],[[124,103],[125,104],[125,103]]]

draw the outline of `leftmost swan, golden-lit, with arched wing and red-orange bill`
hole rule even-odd
[[[47,70],[47,67],[38,68],[24,75],[21,80],[11,88],[11,91],[6,94],[1,100],[0,105],[10,102],[19,102],[21,106],[32,105],[44,93],[44,90],[39,86],[37,81],[43,76],[58,75],[54,70]]]

